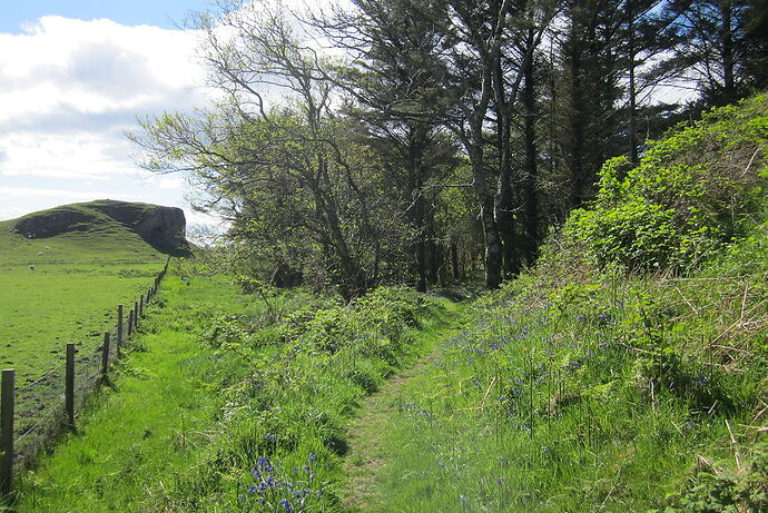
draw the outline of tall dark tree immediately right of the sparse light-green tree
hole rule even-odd
[[[426,17],[411,16],[400,0],[356,0],[355,9],[315,16],[313,23],[352,56],[334,79],[354,101],[349,115],[364,124],[384,155],[388,178],[400,191],[413,227],[416,288],[434,282],[432,186],[456,165],[455,145],[440,129],[435,105],[443,103],[430,62],[442,36]]]

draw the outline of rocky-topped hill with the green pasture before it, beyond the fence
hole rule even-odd
[[[97,345],[165,253],[186,250],[184,214],[155,205],[101,200],[0,223],[0,364],[24,384],[62,357],[65,342]]]

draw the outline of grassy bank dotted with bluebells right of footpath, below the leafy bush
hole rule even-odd
[[[364,511],[647,511],[700,471],[761,475],[766,231],[685,280],[540,275],[482,299],[380,402]]]

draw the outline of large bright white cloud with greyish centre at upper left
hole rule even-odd
[[[200,105],[196,45],[193,32],[61,17],[0,34],[0,130],[24,116],[40,124],[60,112],[117,114],[112,122],[127,122],[164,106]]]

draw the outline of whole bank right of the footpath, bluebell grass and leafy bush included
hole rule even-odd
[[[603,167],[391,399],[374,511],[768,509],[767,114],[762,95]]]

